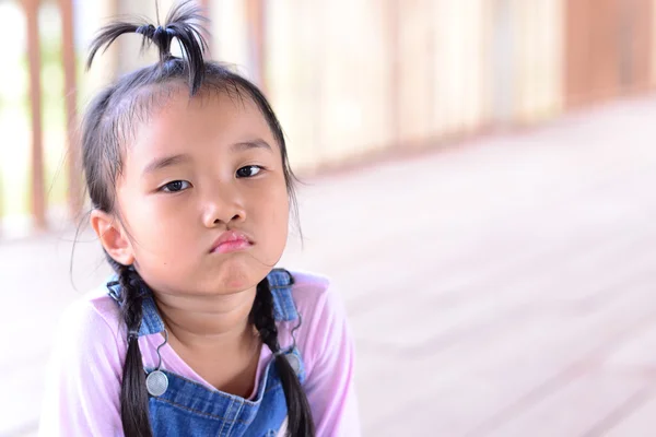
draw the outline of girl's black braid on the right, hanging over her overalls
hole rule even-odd
[[[271,295],[269,281],[266,277],[257,285],[250,320],[257,328],[262,343],[274,354],[279,352],[278,327],[273,318],[273,296]],[[276,354],[276,368],[280,375],[288,405],[288,436],[314,437],[314,421],[312,420],[307,397],[296,373],[284,354]]]

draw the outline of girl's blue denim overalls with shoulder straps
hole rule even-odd
[[[267,276],[273,295],[277,321],[293,321],[298,314],[292,299],[293,277],[285,270],[273,270]],[[118,300],[120,291],[108,286],[109,295]],[[164,330],[151,295],[143,299],[143,320],[139,335]],[[303,359],[294,347],[288,354],[297,359],[301,382],[305,379]],[[152,368],[144,368],[147,373]],[[151,426],[154,436],[276,436],[286,418],[284,392],[273,364],[273,357],[261,373],[257,395],[253,401],[238,395],[208,389],[206,386],[162,370],[168,377],[168,388],[160,397],[149,395]]]

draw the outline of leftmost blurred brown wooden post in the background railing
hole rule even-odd
[[[23,5],[27,19],[30,106],[32,109],[32,216],[34,226],[43,231],[46,228],[46,198],[44,189],[40,43],[38,35],[39,0],[23,0]]]

